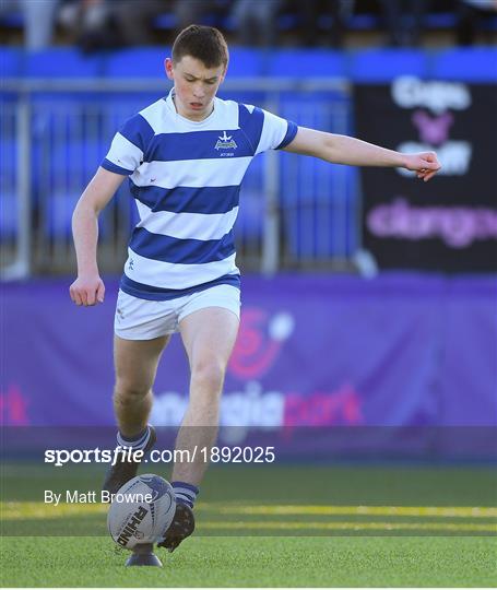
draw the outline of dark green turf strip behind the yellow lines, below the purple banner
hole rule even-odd
[[[144,465],[140,473],[168,479],[161,467]],[[105,469],[3,463],[0,499],[43,502],[45,489],[99,489]],[[496,506],[497,471],[471,464],[211,465],[200,498],[208,503]]]

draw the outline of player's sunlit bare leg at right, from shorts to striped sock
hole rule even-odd
[[[238,318],[228,309],[208,307],[179,324],[190,362],[190,399],[176,440],[176,449],[197,447],[196,460],[178,461],[173,481],[198,485],[208,468],[200,449],[210,449],[217,437],[224,376],[238,333]]]

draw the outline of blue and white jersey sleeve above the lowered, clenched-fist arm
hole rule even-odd
[[[153,137],[154,131],[142,115],[131,117],[114,135],[102,167],[125,176],[133,174],[143,162],[143,154]]]

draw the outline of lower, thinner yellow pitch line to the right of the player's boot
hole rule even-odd
[[[497,534],[496,524],[480,524],[470,522],[281,522],[281,521],[241,521],[241,522],[199,522],[202,529],[274,529],[274,530],[421,530],[421,531],[464,531],[464,532],[493,532]]]

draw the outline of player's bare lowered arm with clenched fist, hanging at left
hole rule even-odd
[[[78,259],[78,279],[69,287],[76,305],[95,305],[104,300],[105,286],[98,273],[96,247],[98,214],[114,197],[125,176],[98,168],[81,196],[72,215],[72,235]]]

